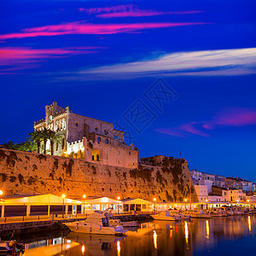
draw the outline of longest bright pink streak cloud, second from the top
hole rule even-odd
[[[34,38],[60,36],[67,34],[116,34],[127,32],[139,32],[145,29],[156,29],[172,26],[193,26],[207,23],[201,22],[150,22],[132,24],[89,24],[84,21],[62,23],[59,25],[38,26],[22,30],[18,33],[0,35],[1,39],[10,38]]]

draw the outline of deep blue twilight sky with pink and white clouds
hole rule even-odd
[[[53,101],[126,131],[141,156],[256,181],[253,0],[3,0],[0,143]]]

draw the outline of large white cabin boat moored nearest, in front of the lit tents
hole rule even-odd
[[[84,234],[121,236],[127,232],[127,230],[124,230],[122,225],[113,227],[108,222],[108,216],[106,216],[105,213],[101,211],[92,213],[84,221],[76,221],[67,223],[66,225],[71,231]]]

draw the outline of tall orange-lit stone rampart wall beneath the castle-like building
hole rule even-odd
[[[183,201],[184,197],[189,199],[189,178],[185,160],[164,156],[144,159],[143,165],[132,170],[0,149],[0,188],[6,195],[66,193],[69,198],[85,194]],[[192,187],[191,191],[195,201],[195,189]]]

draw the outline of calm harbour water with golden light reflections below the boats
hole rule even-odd
[[[127,236],[70,233],[64,239],[26,245],[30,255],[247,255],[256,250],[256,216],[192,219],[179,223],[154,221],[141,224]],[[43,249],[43,250],[42,250]],[[39,252],[43,252],[39,253]],[[38,254],[37,254],[38,253]]]

